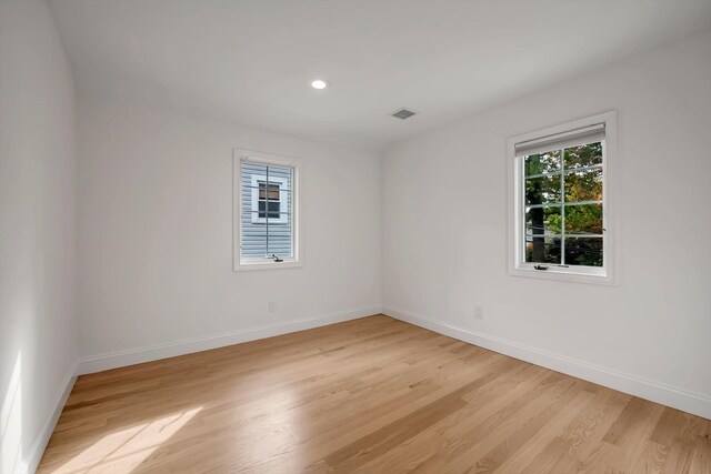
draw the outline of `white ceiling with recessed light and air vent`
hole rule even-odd
[[[711,26],[709,0],[50,6],[80,93],[371,151]]]

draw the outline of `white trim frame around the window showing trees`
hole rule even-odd
[[[535,140],[548,135],[564,133],[583,127],[604,123],[605,139],[603,142],[603,266],[572,265],[559,268],[548,265],[548,270],[535,270],[533,263],[525,263],[523,255],[523,232],[525,231],[522,215],[522,160],[515,157],[515,144],[529,140]],[[617,218],[617,111],[603,112],[560,125],[549,127],[507,140],[507,169],[508,169],[508,272],[514,276],[533,279],[559,280],[581,283],[617,284],[619,270],[619,252],[617,233],[619,221]]]

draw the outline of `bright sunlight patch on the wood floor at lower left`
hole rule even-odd
[[[202,407],[111,433],[52,472],[54,474],[130,473],[183,427],[200,410]]]

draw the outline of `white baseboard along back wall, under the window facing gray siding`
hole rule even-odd
[[[362,307],[344,313],[327,314],[319,317],[311,317],[286,323],[251,327],[242,331],[234,331],[222,334],[214,334],[191,340],[174,341],[164,344],[156,344],[146,347],[129,349],[126,351],[109,352],[106,354],[81,357],[79,360],[78,375],[93,372],[107,371],[109,369],[124,367],[127,365],[140,364],[143,362],[158,361],[160,359],[173,357],[176,355],[190,354],[192,352],[207,351],[226,345],[239,344],[242,342],[256,341],[258,339],[272,337],[297,331],[340,323],[343,321],[357,320],[359,317],[379,314],[380,307]]]

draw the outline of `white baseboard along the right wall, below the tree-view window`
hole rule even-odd
[[[589,362],[554,354],[537,347],[507,341],[489,334],[470,331],[431,320],[410,312],[383,307],[382,313],[460,341],[468,342],[521,361],[541,365],[578,379],[619,390],[640,399],[693,413],[711,420],[711,396],[654,382],[637,375],[625,374]]]

